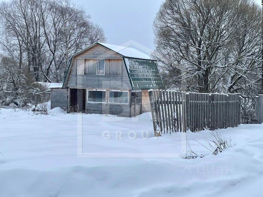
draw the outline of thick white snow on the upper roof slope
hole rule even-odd
[[[101,43],[98,42],[99,44],[109,48],[110,50],[113,50],[125,57],[130,57],[130,58],[140,58],[140,59],[148,59],[150,60],[150,56],[146,55],[145,53],[126,46],[118,46],[118,45],[113,45],[113,44],[106,44],[106,43]]]

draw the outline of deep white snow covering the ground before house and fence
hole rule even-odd
[[[263,125],[220,129],[233,147],[218,155],[198,143],[209,131],[186,133],[205,157],[184,159],[185,135],[151,137],[149,113],[51,113],[0,111],[1,197],[262,196]],[[103,155],[127,158],[96,158]]]

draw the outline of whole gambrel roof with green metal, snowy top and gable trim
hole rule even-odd
[[[67,81],[73,58],[98,44],[123,57],[133,90],[164,88],[156,60],[151,59],[149,55],[134,48],[100,42],[90,45],[72,56],[63,87],[65,87],[65,82]]]

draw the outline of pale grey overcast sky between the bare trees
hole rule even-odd
[[[154,49],[153,20],[163,0],[73,0],[105,31],[107,43],[134,40]]]

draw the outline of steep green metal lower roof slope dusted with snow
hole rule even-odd
[[[124,57],[133,90],[164,89],[156,61]]]

